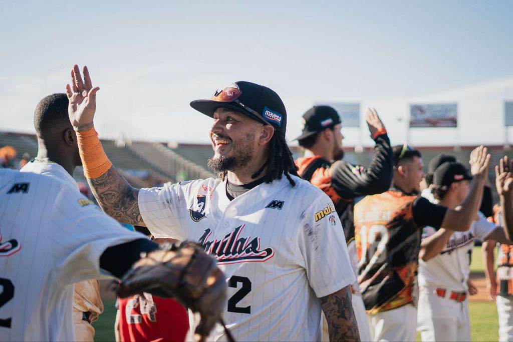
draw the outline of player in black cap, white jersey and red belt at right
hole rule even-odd
[[[508,169],[501,160],[501,169],[496,171],[497,189],[503,202],[511,200],[513,178]],[[432,194],[436,202],[448,208],[457,207],[468,192],[471,178],[460,163],[442,164],[433,175]],[[506,210],[507,215],[510,215],[509,211]],[[418,331],[422,341],[470,340],[467,281],[474,241],[476,238],[494,239],[511,245],[512,228],[508,224],[502,228],[488,222],[481,212],[464,232],[424,228],[418,276]]]

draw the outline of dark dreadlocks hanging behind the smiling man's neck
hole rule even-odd
[[[281,134],[277,134],[277,132],[274,133],[269,142],[269,156],[266,162],[257,172],[251,175],[251,178],[257,178],[268,166],[267,174],[263,177],[265,183],[271,183],[275,179],[282,179],[282,175],[285,174],[290,185],[294,187],[295,182],[290,175],[297,176],[298,168],[294,164],[292,152],[285,138]],[[228,171],[223,171],[220,174],[220,178],[225,180],[227,175]]]

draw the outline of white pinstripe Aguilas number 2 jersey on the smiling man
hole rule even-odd
[[[155,237],[200,242],[224,268],[229,299],[223,316],[236,340],[320,340],[318,297],[355,280],[331,200],[293,179],[294,188],[283,177],[231,202],[226,183],[213,178],[139,192],[139,209]],[[223,339],[220,327],[209,336]]]

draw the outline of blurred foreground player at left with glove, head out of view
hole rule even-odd
[[[225,298],[226,280],[218,268],[207,273],[207,279],[205,273],[199,273],[201,270],[194,274],[208,282],[198,286],[184,283],[194,268],[188,268],[189,263],[182,265],[182,259],[169,259],[177,252],[160,250],[144,235],[122,228],[54,177],[0,170],[0,233],[2,341],[75,340],[73,284],[86,279],[123,278],[121,285],[128,294],[132,290],[165,289],[167,294],[190,298],[169,291],[180,284],[183,291],[199,294],[196,310],[202,314],[224,306],[223,302],[211,301],[211,307],[205,310],[202,301],[211,299],[209,293]],[[203,252],[194,255],[204,262],[211,260]],[[162,264],[174,272],[153,272],[152,287],[145,286],[145,265],[162,256],[168,257]],[[206,315],[202,321],[205,329],[199,333],[205,336],[212,325]]]

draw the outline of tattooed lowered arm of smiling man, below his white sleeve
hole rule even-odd
[[[319,301],[328,321],[330,341],[360,341],[349,286],[321,297]]]

